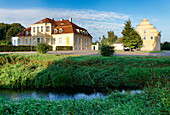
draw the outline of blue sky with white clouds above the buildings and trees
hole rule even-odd
[[[122,37],[125,20],[137,27],[146,18],[161,42],[170,41],[170,0],[0,0],[0,23],[21,23],[26,28],[44,18],[73,18],[86,28],[93,42],[114,31]]]

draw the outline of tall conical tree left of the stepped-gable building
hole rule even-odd
[[[125,22],[125,27],[122,31],[122,35],[123,38],[120,39],[120,42],[123,43],[125,47],[130,49],[142,47],[143,42],[141,37],[132,27],[130,19]]]

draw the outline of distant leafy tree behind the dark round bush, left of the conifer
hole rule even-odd
[[[108,38],[106,38],[103,35],[101,43],[104,45],[113,45],[113,43],[118,39],[117,35],[115,35],[113,31],[108,31],[107,34],[108,34]]]

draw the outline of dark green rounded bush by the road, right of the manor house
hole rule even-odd
[[[102,45],[101,47],[101,55],[102,56],[112,56],[114,53],[114,47],[109,45]]]

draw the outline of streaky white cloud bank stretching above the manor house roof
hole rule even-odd
[[[18,22],[28,27],[46,17],[68,19],[73,18],[73,22],[86,28],[93,36],[93,41],[100,36],[106,35],[107,31],[113,30],[121,36],[121,29],[129,15],[115,12],[103,12],[95,10],[71,10],[71,9],[0,9],[0,22]]]

